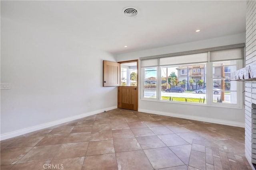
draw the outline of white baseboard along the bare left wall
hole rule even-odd
[[[67,117],[67,118],[64,118],[64,119],[51,121],[51,122],[44,123],[44,124],[41,124],[41,125],[27,127],[27,128],[24,128],[24,129],[20,129],[18,131],[12,131],[12,132],[9,132],[9,133],[4,133],[4,134],[0,135],[0,140],[2,141],[4,139],[9,139],[9,138],[12,138],[12,137],[24,135],[26,133],[38,131],[38,130],[41,130],[41,129],[44,129],[44,128],[52,127],[52,126],[55,126],[55,125],[59,125],[61,123],[66,123],[68,121],[80,119],[80,118],[87,117],[87,116],[90,116],[90,115],[95,115],[95,114],[102,113],[104,111],[108,111],[108,110],[112,110],[112,109],[116,109],[116,108],[117,108],[117,106],[107,107],[105,109],[99,109],[99,110],[91,111],[91,112],[88,112],[88,113],[83,113],[83,114],[80,114],[80,115],[75,115],[75,116],[72,116],[72,117]]]

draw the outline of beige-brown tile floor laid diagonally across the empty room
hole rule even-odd
[[[244,128],[114,109],[1,141],[1,170],[251,170]]]

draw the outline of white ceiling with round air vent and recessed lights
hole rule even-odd
[[[1,18],[120,54],[243,33],[246,1],[1,1]]]

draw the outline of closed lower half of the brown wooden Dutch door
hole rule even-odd
[[[138,111],[138,88],[136,86],[118,87],[118,108]]]

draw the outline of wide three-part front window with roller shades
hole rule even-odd
[[[142,100],[151,98],[157,102],[241,108],[242,83],[230,81],[230,74],[243,67],[243,47],[216,47],[212,48],[213,51],[196,51],[193,54],[184,52],[180,56],[173,53],[156,56],[154,61],[154,56],[150,56],[147,61],[149,64],[144,63],[141,58],[144,80],[147,71],[152,68],[156,79],[156,84],[150,92],[144,87]]]

